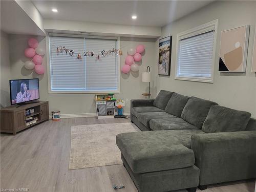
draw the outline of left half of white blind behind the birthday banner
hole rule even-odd
[[[52,91],[81,91],[86,88],[84,59],[76,59],[65,51],[57,53],[58,46],[84,51],[84,38],[50,36],[50,69]]]

